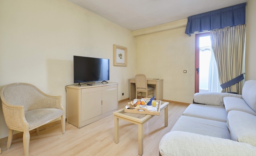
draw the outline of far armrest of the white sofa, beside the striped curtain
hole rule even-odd
[[[196,93],[194,94],[194,102],[205,105],[220,105],[224,106],[224,97],[242,98],[242,95],[231,93]]]

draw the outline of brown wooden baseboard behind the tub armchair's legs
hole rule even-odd
[[[53,122],[47,123],[47,124],[45,124],[43,126],[40,126],[39,129],[45,129],[47,127],[51,127],[51,126],[54,126],[54,125],[57,125],[57,124],[60,124],[60,123],[61,123],[61,120],[53,121]],[[33,130],[29,131],[29,134],[35,133],[35,132],[36,132],[36,129],[33,129]],[[39,133],[40,133],[40,131],[39,131]],[[12,140],[13,139],[17,139],[19,137],[23,137],[23,132],[20,132],[20,133],[17,133],[17,134],[13,134]],[[0,139],[0,144],[7,142],[7,140],[8,140],[8,136]],[[1,148],[0,148],[0,154],[1,154]]]

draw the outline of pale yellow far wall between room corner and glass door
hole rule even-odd
[[[186,35],[185,28],[137,36],[136,74],[164,79],[165,100],[191,103],[195,93],[195,35]]]

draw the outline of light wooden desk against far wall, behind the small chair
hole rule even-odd
[[[163,79],[147,79],[148,86],[154,87],[156,100],[163,101]],[[129,79],[129,99],[136,98],[135,78]]]

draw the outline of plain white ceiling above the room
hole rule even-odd
[[[68,1],[132,31],[247,2],[247,0]]]

